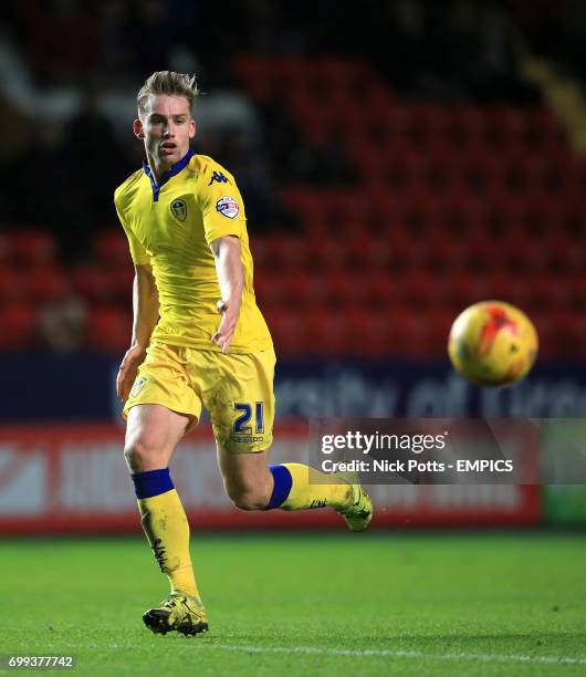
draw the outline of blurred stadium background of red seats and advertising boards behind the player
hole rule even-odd
[[[140,166],[135,97],[155,70],[197,74],[195,148],[244,197],[279,356],[275,459],[304,454],[311,416],[583,416],[585,52],[578,0],[2,3],[0,532],[139,527],[112,196]],[[490,298],[520,305],[541,347],[524,382],[480,390],[446,343]],[[209,430],[184,447],[196,527],[284,525],[229,507]],[[375,499],[383,527],[537,524],[586,520],[584,489]]]

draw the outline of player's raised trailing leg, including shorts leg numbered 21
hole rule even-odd
[[[274,420],[273,351],[221,355],[219,385],[203,402],[210,412],[218,464],[228,496],[243,510],[333,508],[353,531],[370,522],[370,499],[357,478],[327,476],[303,464],[269,467]]]

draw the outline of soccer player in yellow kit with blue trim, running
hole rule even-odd
[[[185,635],[206,632],[208,618],[169,461],[202,406],[238,508],[331,507],[353,531],[366,529],[373,512],[357,480],[317,483],[326,476],[307,466],[268,466],[275,356],[254,300],[234,178],[189,147],[196,95],[188,75],[147,79],[133,126],[146,159],[114,197],[135,264],[133,336],[116,381],[127,418],[125,458],[146,538],[170,583],[169,596],[143,618],[155,633]]]

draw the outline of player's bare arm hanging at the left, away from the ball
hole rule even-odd
[[[153,269],[148,264],[135,264],[133,284],[133,337],[116,378],[118,397],[126,402],[136,378],[138,367],[146,356],[150,336],[159,319],[159,296]]]

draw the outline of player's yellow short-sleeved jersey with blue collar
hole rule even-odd
[[[220,351],[211,341],[221,316],[210,242],[240,239],[243,289],[231,353],[272,347],[252,287],[252,257],[242,197],[233,176],[210,157],[187,155],[157,184],[148,165],[118,186],[114,202],[136,264],[150,264],[159,295],[151,341]]]

